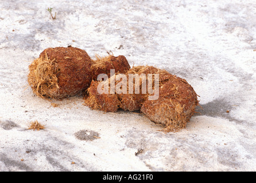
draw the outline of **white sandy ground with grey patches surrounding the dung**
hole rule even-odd
[[[255,12],[255,1],[1,0],[0,171],[255,171]],[[139,113],[34,96],[30,61],[68,45],[185,78],[204,110],[165,134]],[[45,129],[28,130],[34,120]]]

